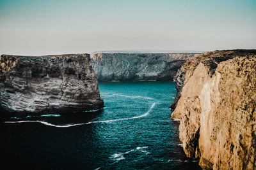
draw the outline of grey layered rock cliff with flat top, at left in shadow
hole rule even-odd
[[[1,55],[0,103],[8,113],[33,115],[103,107],[89,54]]]

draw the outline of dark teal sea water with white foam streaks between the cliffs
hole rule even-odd
[[[200,169],[186,158],[169,106],[175,83],[100,82],[106,108],[1,124],[4,164],[27,169]],[[56,127],[58,126],[58,127]]]

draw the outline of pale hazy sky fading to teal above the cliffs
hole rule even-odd
[[[256,48],[256,0],[0,0],[0,54]]]

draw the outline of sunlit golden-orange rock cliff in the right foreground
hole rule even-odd
[[[206,169],[256,169],[256,50],[203,53],[182,66],[180,140]]]

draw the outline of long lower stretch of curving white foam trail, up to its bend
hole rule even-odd
[[[9,124],[14,124],[14,123],[24,123],[24,122],[38,122],[44,125],[49,125],[52,127],[72,127],[72,126],[77,126],[77,125],[88,125],[88,124],[97,124],[97,123],[109,123],[109,122],[117,122],[117,121],[122,121],[122,120],[131,120],[135,118],[142,118],[142,117],[147,117],[147,115],[150,113],[150,111],[154,108],[156,103],[153,103],[150,107],[150,109],[143,115],[140,115],[138,117],[130,117],[130,118],[118,118],[118,119],[113,119],[113,120],[99,120],[99,121],[93,121],[93,122],[87,122],[83,124],[67,124],[67,125],[54,125],[50,124],[48,122],[40,121],[40,120],[22,120],[22,121],[17,121],[17,122],[4,122],[4,123],[9,123]]]

